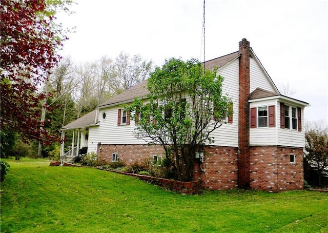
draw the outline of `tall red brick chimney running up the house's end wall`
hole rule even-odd
[[[239,42],[239,122],[238,122],[238,187],[250,187],[250,42]]]

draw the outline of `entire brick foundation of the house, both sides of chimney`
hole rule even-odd
[[[207,146],[204,150],[204,162],[195,159],[194,180],[207,189],[237,188],[238,148]],[[152,159],[154,155],[165,157],[161,145],[98,145],[99,160],[111,162],[114,152],[126,165]],[[295,163],[290,163],[290,153],[295,154]],[[249,157],[250,188],[273,192],[303,189],[302,148],[251,146]]]

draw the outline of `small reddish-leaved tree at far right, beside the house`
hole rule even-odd
[[[321,186],[321,173],[328,168],[327,127],[315,126],[305,131],[305,151],[306,160],[318,169],[318,183]]]

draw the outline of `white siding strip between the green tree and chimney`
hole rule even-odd
[[[223,124],[211,134],[214,137],[215,146],[238,146],[238,66],[236,59],[229,65],[219,69],[218,74],[224,77],[222,83],[222,94],[228,96],[233,101],[233,122]]]

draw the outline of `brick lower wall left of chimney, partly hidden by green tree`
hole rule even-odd
[[[118,159],[127,165],[134,162],[142,162],[147,158],[153,158],[155,154],[165,157],[161,145],[98,145],[99,160],[112,161],[112,153],[118,153]],[[238,161],[237,148],[208,146],[206,147],[205,161],[202,172],[199,159],[195,159],[194,178],[199,180],[203,188],[231,189],[237,187]]]

